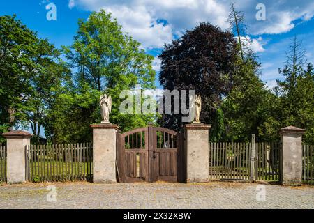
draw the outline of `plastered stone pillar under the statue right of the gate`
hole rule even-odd
[[[209,129],[211,125],[184,125],[186,182],[209,181]]]

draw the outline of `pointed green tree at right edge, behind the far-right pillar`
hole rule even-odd
[[[304,55],[301,41],[294,37],[286,55],[286,64],[279,69],[284,79],[277,81],[276,98],[269,106],[272,113],[260,127],[261,134],[266,138],[276,136],[278,139],[280,128],[294,125],[306,129],[303,138],[306,143],[314,143],[313,66],[309,63],[304,69]]]

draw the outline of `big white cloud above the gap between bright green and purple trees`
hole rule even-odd
[[[223,29],[228,27],[228,11],[216,0],[75,0],[75,6],[111,12],[124,31],[146,49],[163,47],[171,42],[174,34],[192,29],[199,22],[211,21]],[[167,21],[167,24],[159,20]]]

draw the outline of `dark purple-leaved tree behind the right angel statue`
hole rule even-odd
[[[200,23],[172,44],[165,45],[160,55],[160,84],[170,91],[195,90],[202,95],[200,121],[213,123],[216,109],[232,86],[236,48],[231,33],[209,23]],[[160,123],[179,130],[181,116],[164,115]]]

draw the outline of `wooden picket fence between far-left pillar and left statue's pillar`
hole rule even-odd
[[[26,178],[31,182],[91,180],[91,144],[26,147]]]

